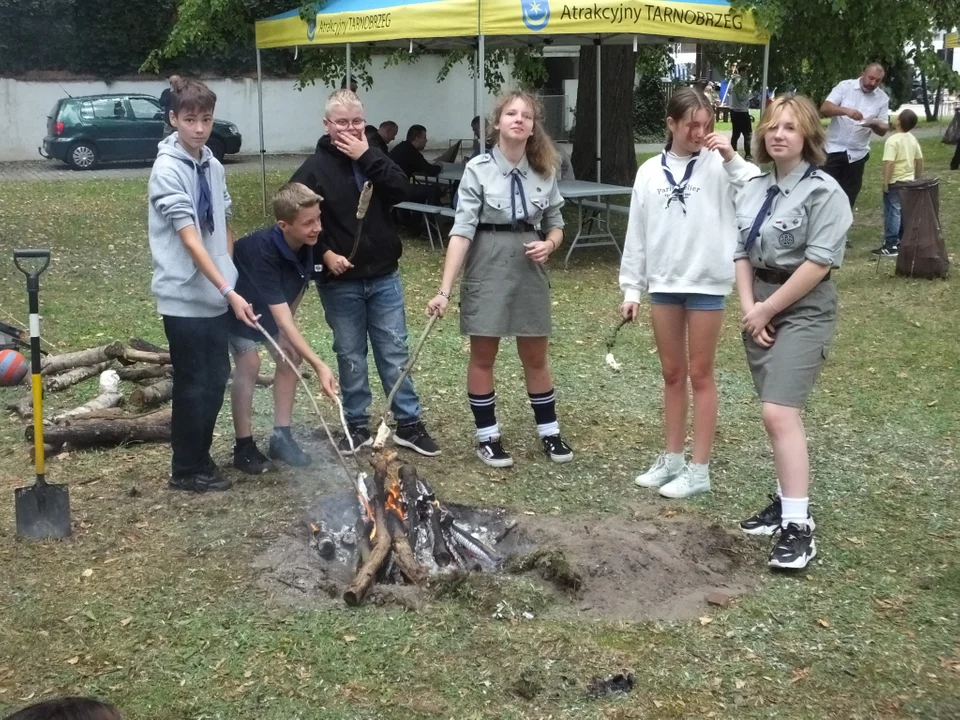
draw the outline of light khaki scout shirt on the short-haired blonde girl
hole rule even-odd
[[[734,204],[740,239],[734,260],[748,258],[756,268],[786,272],[793,272],[806,260],[840,267],[847,230],[853,223],[850,201],[837,181],[822,170],[816,169],[804,178],[808,167],[809,163],[801,162],[780,182],[772,172],[763,173],[737,193]],[[766,199],[767,188],[773,185],[780,192],[747,252],[744,243]]]

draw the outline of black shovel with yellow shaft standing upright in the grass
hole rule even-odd
[[[25,265],[21,261],[42,260]],[[43,382],[40,379],[40,275],[50,264],[49,250],[15,250],[13,262],[27,276],[30,301],[30,370],[33,375],[33,459],[37,481],[30,487],[13,491],[16,504],[17,535],[31,540],[64,538],[70,534],[70,494],[66,485],[48,485],[44,479],[43,457]]]

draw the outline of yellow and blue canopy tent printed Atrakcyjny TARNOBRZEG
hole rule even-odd
[[[758,30],[752,12],[735,10],[728,0],[330,0],[311,20],[299,10],[256,23],[257,96],[260,115],[260,166],[266,211],[263,144],[263,90],[260,50],[299,46],[477,48],[475,94],[483,117],[484,51],[523,45],[595,45],[600,87],[602,43],[662,43],[678,38],[766,45],[763,66],[767,96],[769,37]],[[600,94],[597,93],[597,177],[600,177]],[[485,133],[481,132],[481,143]]]

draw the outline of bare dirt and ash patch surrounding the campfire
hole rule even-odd
[[[319,517],[331,527],[345,527],[352,504],[347,494],[325,498],[303,525],[281,535],[255,559],[261,587],[277,602],[345,607],[342,595],[356,561],[342,548],[332,560],[322,559],[307,523]],[[758,576],[758,569],[744,561],[756,553],[745,552],[742,538],[663,505],[636,505],[626,516],[577,517],[450,509],[499,540],[501,576],[517,577],[509,569],[522,566],[524,577],[545,588],[551,598],[545,614],[552,617],[690,619],[706,611],[711,593],[742,595],[754,588]],[[379,584],[366,602],[418,609],[430,593],[430,588]]]

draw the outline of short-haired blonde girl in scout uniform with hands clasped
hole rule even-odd
[[[853,222],[840,185],[817,168],[826,158],[824,139],[810,100],[773,100],[753,142],[757,160],[773,162],[774,170],[736,198],[743,343],[778,478],[770,505],[740,526],[752,535],[780,534],[770,552],[775,568],[804,568],[817,554],[800,411],[833,339],[837,288],[830,272],[840,267]]]

